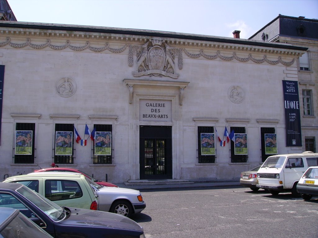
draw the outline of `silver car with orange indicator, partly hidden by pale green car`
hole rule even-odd
[[[113,212],[124,216],[139,213],[146,208],[146,203],[138,190],[130,188],[106,187],[90,181],[98,193],[100,211]]]

